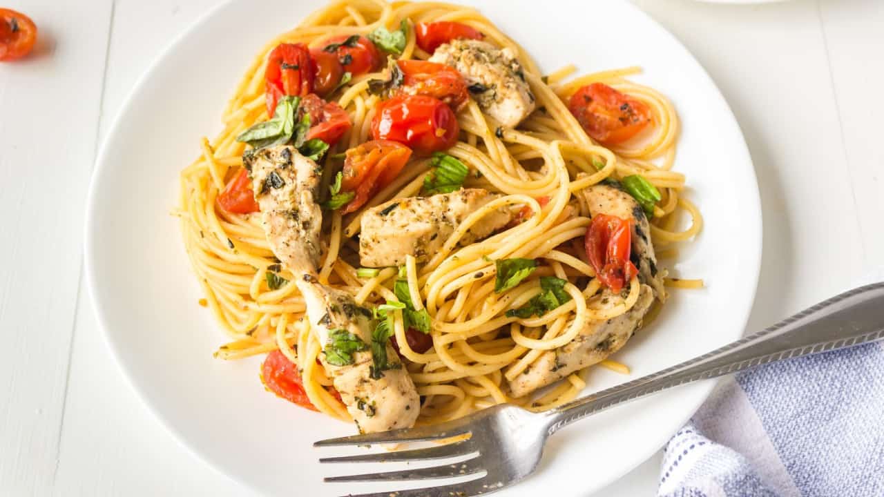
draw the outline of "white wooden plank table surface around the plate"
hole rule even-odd
[[[6,2],[41,42],[39,57],[0,65],[0,495],[251,494],[181,447],[120,377],[81,264],[112,118],[160,50],[220,1]],[[636,4],[705,65],[749,143],[765,236],[751,326],[880,265],[884,3]],[[598,495],[651,495],[658,467],[653,457]]]

